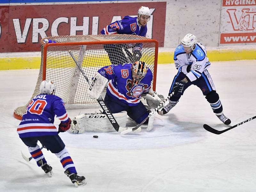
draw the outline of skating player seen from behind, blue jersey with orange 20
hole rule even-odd
[[[65,132],[70,127],[70,118],[64,107],[63,100],[54,95],[55,85],[51,81],[42,81],[39,87],[40,94],[35,96],[27,106],[26,113],[18,126],[17,132],[20,139],[28,146],[29,153],[45,173],[52,176],[52,167],[47,164],[44,155],[37,145],[41,144],[60,158],[60,163],[65,169],[65,174],[75,186],[85,185],[84,176],[78,176],[75,165],[65,144],[58,135],[57,128],[53,125],[54,116],[60,119],[59,132]]]

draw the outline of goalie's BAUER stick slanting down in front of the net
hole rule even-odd
[[[74,57],[73,53],[71,52],[71,50],[68,50],[68,53],[71,55],[71,57],[73,58],[73,60],[76,63],[76,66],[79,68],[79,70],[81,71],[81,73],[83,74],[84,78],[86,79],[86,81],[88,82],[88,84],[91,86],[91,82],[90,80],[87,78],[87,76],[85,75],[83,69],[79,66],[76,58]],[[105,104],[104,100],[102,99],[102,97],[100,96],[99,99],[97,99],[98,103],[100,104],[100,107],[103,109],[104,113],[106,114],[106,116],[108,117],[109,122],[112,124],[112,126],[114,127],[114,129],[117,132],[121,132],[124,129],[127,129],[125,127],[121,127],[122,129],[119,130],[120,126],[117,123],[115,117],[113,116],[113,114],[111,113],[111,111],[109,110],[108,106]],[[125,134],[125,133],[124,133]]]

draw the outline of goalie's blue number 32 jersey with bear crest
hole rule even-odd
[[[147,74],[138,85],[133,84],[132,63],[117,66],[109,65],[98,70],[100,75],[109,81],[107,94],[113,99],[118,99],[129,106],[136,106],[140,102],[141,94],[148,93],[151,88],[153,75],[148,68]]]

